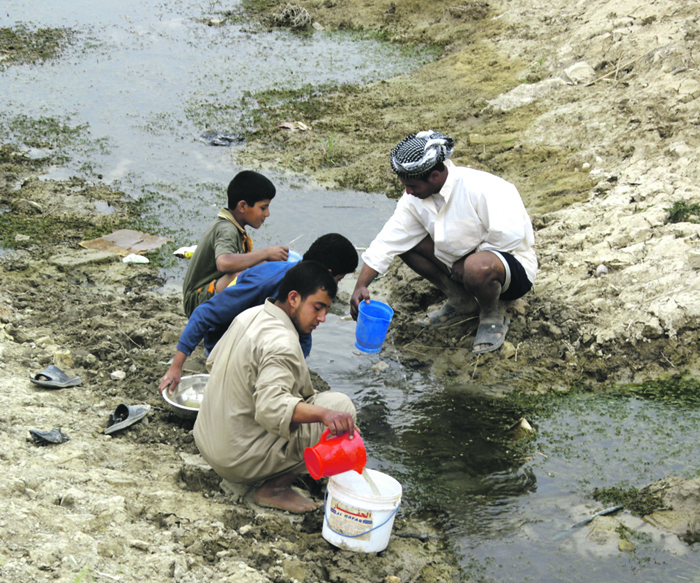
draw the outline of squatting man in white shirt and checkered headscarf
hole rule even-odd
[[[449,161],[454,141],[432,130],[411,134],[391,152],[406,187],[396,210],[362,255],[350,302],[370,298],[369,284],[397,255],[447,296],[421,324],[448,326],[479,316],[473,351],[499,348],[508,317],[499,300],[530,291],[537,274],[535,235],[518,190],[502,178]]]

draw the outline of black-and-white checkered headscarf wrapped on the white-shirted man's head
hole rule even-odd
[[[454,147],[454,140],[440,132],[428,130],[411,134],[391,151],[391,169],[399,178],[421,176],[452,156]]]

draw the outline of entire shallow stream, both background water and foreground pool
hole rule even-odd
[[[218,2],[50,4],[3,3],[2,27],[78,34],[60,60],[0,72],[0,123],[7,130],[26,116],[81,127],[83,139],[66,145],[71,162],[49,177],[101,175],[132,196],[153,197],[178,246],[196,243],[242,169],[240,146],[200,139],[212,129],[237,130],[231,116],[212,128],[211,104],[236,103],[244,91],[364,83],[427,58],[348,35],[207,26],[231,7]],[[303,252],[318,235],[337,231],[361,248],[394,206],[382,195],[266,173],[278,196],[267,224],[253,234],[257,246],[285,243]],[[184,262],[168,270],[171,285],[183,269]],[[352,284],[344,282],[345,291]],[[590,497],[595,487],[641,488],[669,475],[696,475],[696,405],[624,393],[494,401],[476,386],[436,382],[391,342],[379,354],[361,353],[354,326],[342,309],[330,316],[314,333],[309,365],[358,405],[369,466],[401,481],[402,515],[447,537],[472,581],[700,579],[698,549],[674,536],[642,536],[626,554],[601,550],[585,538],[586,528],[568,532],[603,508]],[[522,416],[536,437],[515,442],[505,431]],[[638,529],[646,532],[641,523]]]

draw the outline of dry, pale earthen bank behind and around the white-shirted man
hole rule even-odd
[[[260,4],[270,22],[278,8]],[[280,113],[267,111],[245,160],[399,196],[390,149],[435,129],[455,138],[457,164],[513,182],[536,228],[538,279],[506,306],[505,348],[485,357],[471,354],[475,322],[440,332],[413,324],[442,298],[395,266],[387,285],[405,351],[456,382],[531,390],[697,371],[697,6],[298,4],[317,25],[435,43],[444,53],[389,81],[290,101],[282,115],[310,132],[280,131]],[[329,138],[332,159],[319,152]]]

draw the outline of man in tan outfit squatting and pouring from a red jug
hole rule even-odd
[[[317,504],[295,492],[304,449],[328,427],[354,436],[355,407],[341,393],[317,393],[299,344],[326,319],[337,285],[328,268],[302,261],[277,297],[242,312],[207,360],[211,376],[194,426],[204,459],[234,483],[264,481],[253,499],[302,513]]]

